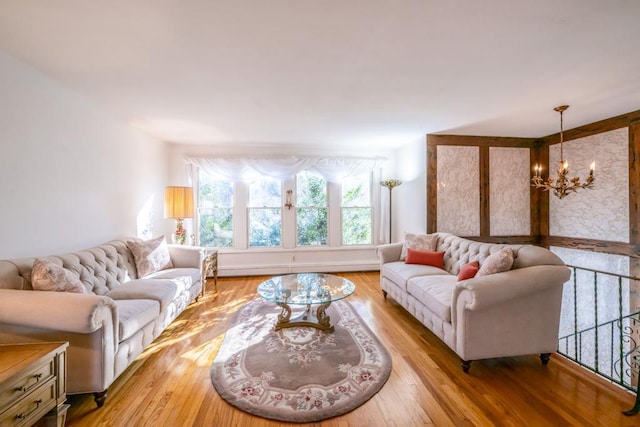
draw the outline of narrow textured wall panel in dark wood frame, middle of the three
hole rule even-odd
[[[492,236],[531,234],[528,148],[489,148]]]

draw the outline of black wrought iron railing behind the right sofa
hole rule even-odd
[[[558,352],[636,392],[640,371],[640,278],[569,267],[572,283],[565,287],[561,320],[561,331],[569,332],[561,333]],[[573,330],[569,322],[573,323]],[[637,397],[634,408],[626,413],[638,411]]]

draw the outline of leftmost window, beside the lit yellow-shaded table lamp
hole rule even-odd
[[[233,246],[233,183],[199,174],[198,230],[200,245]]]

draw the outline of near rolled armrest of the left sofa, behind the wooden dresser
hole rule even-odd
[[[118,311],[109,297],[0,289],[0,324],[90,334],[104,323],[118,330]]]

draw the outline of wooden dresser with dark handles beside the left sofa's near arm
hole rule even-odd
[[[0,426],[64,425],[68,345],[0,345]]]

